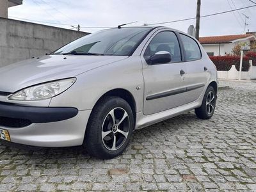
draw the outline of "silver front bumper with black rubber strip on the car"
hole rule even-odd
[[[9,132],[13,143],[36,147],[77,146],[83,144],[90,113],[91,110],[78,111],[76,108],[0,102],[0,129]],[[26,121],[26,124],[13,124],[19,120]]]

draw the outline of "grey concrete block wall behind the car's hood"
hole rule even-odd
[[[84,35],[88,33],[0,18],[0,67],[49,54]]]

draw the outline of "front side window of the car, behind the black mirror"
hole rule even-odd
[[[177,36],[172,31],[158,33],[148,45],[144,56],[152,56],[159,51],[168,51],[172,56],[172,62],[181,61],[180,45]]]

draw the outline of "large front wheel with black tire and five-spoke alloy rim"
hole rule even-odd
[[[131,140],[133,128],[131,106],[120,97],[104,97],[92,110],[84,147],[93,157],[112,159],[124,152]]]

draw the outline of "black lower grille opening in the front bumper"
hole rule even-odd
[[[31,125],[31,124],[32,122],[26,119],[8,118],[8,117],[0,116],[0,126],[20,128],[20,127],[27,127],[28,125]]]

